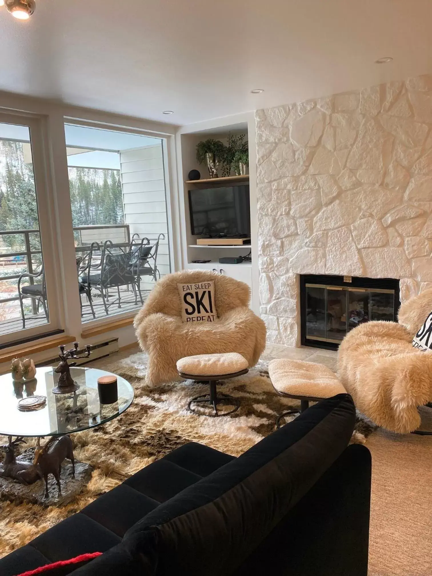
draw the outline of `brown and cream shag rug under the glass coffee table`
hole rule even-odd
[[[197,416],[187,410],[188,401],[208,392],[196,382],[169,382],[150,388],[144,384],[146,354],[134,354],[104,369],[126,378],[135,399],[124,414],[104,426],[72,434],[77,460],[93,466],[92,479],[74,501],[64,507],[0,502],[0,557],[78,512],[154,460],[194,441],[239,456],[275,430],[276,417],[300,401],[278,396],[268,378],[266,361],[248,374],[227,380],[218,390],[236,396],[240,409],[222,418]],[[98,367],[102,367],[98,362]],[[365,442],[374,426],[358,417],[353,442]],[[0,437],[0,444],[6,438]],[[24,448],[35,445],[31,439]],[[18,451],[17,451],[18,453]]]

